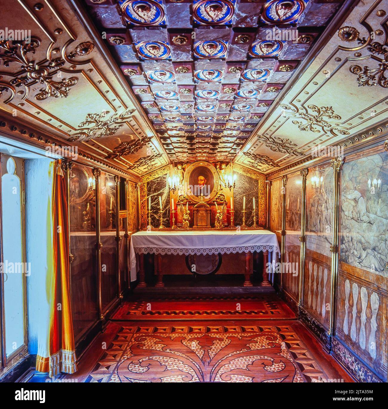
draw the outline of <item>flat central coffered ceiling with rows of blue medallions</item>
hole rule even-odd
[[[341,1],[86,0],[172,162],[231,161]],[[269,138],[298,152],[289,137]],[[245,157],[245,156],[244,156]],[[242,161],[262,167],[272,151]],[[254,162],[249,162],[254,161]]]

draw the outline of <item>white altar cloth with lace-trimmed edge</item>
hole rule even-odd
[[[259,251],[280,255],[276,234],[268,230],[138,231],[131,235],[131,281],[136,280],[136,254],[230,254]]]

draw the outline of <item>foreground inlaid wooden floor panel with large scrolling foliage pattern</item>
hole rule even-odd
[[[237,324],[121,323],[85,381],[319,382],[325,378],[291,323]]]

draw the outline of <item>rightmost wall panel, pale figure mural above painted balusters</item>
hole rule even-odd
[[[341,171],[336,335],[387,378],[388,152],[347,157]],[[362,377],[361,369],[357,372]]]

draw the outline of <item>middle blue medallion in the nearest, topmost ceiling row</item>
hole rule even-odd
[[[196,0],[193,2],[195,24],[231,24],[235,12],[235,0]]]

